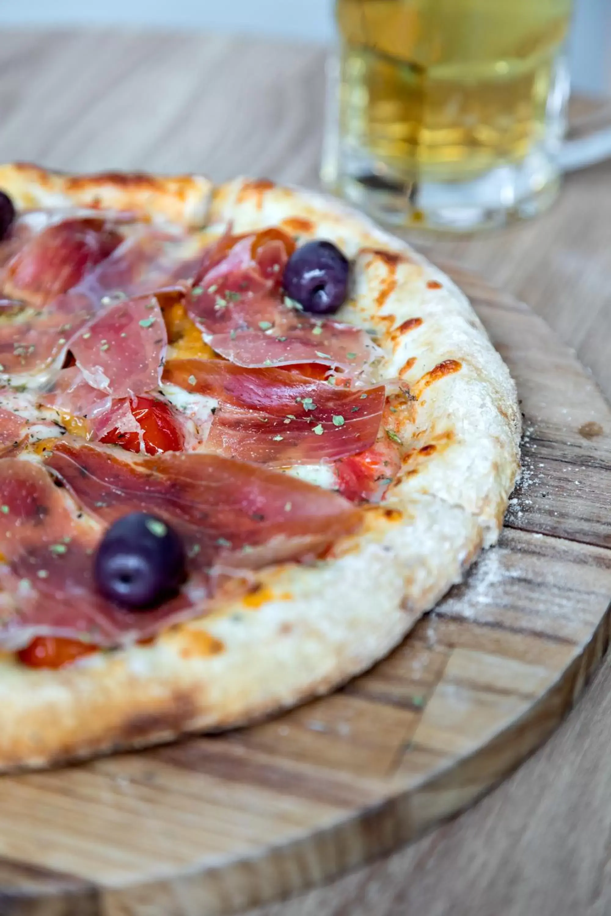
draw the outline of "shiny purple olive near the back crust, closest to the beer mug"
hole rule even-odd
[[[290,257],[283,287],[315,315],[333,315],[348,295],[350,263],[333,242],[307,242]]]

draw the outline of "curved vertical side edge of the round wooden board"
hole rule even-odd
[[[235,916],[328,884],[417,839],[494,789],[547,741],[595,674],[610,635],[611,605],[592,638],[524,714],[485,748],[441,769],[431,780],[398,792],[324,831],[267,849],[261,856],[233,866],[177,875],[139,887],[103,889],[104,916],[123,916],[126,912],[130,916],[187,916],[179,903],[183,895],[190,900],[189,912],[194,907],[198,916]],[[180,894],[176,894],[179,882]],[[73,912],[67,910],[65,916]],[[19,911],[18,916],[30,913]],[[60,916],[64,916],[63,911]]]

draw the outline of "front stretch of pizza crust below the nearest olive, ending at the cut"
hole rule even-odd
[[[388,517],[389,516],[389,517]],[[60,671],[0,664],[0,764],[38,768],[245,725],[330,692],[387,654],[475,559],[475,519],[431,496],[367,512],[315,567],[267,570],[242,601],[151,646]]]

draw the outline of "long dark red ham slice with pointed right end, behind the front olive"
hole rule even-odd
[[[47,464],[104,522],[135,511],[168,521],[185,540],[191,568],[257,568],[315,556],[361,518],[342,496],[219,455],[166,453],[130,462],[64,441]]]

